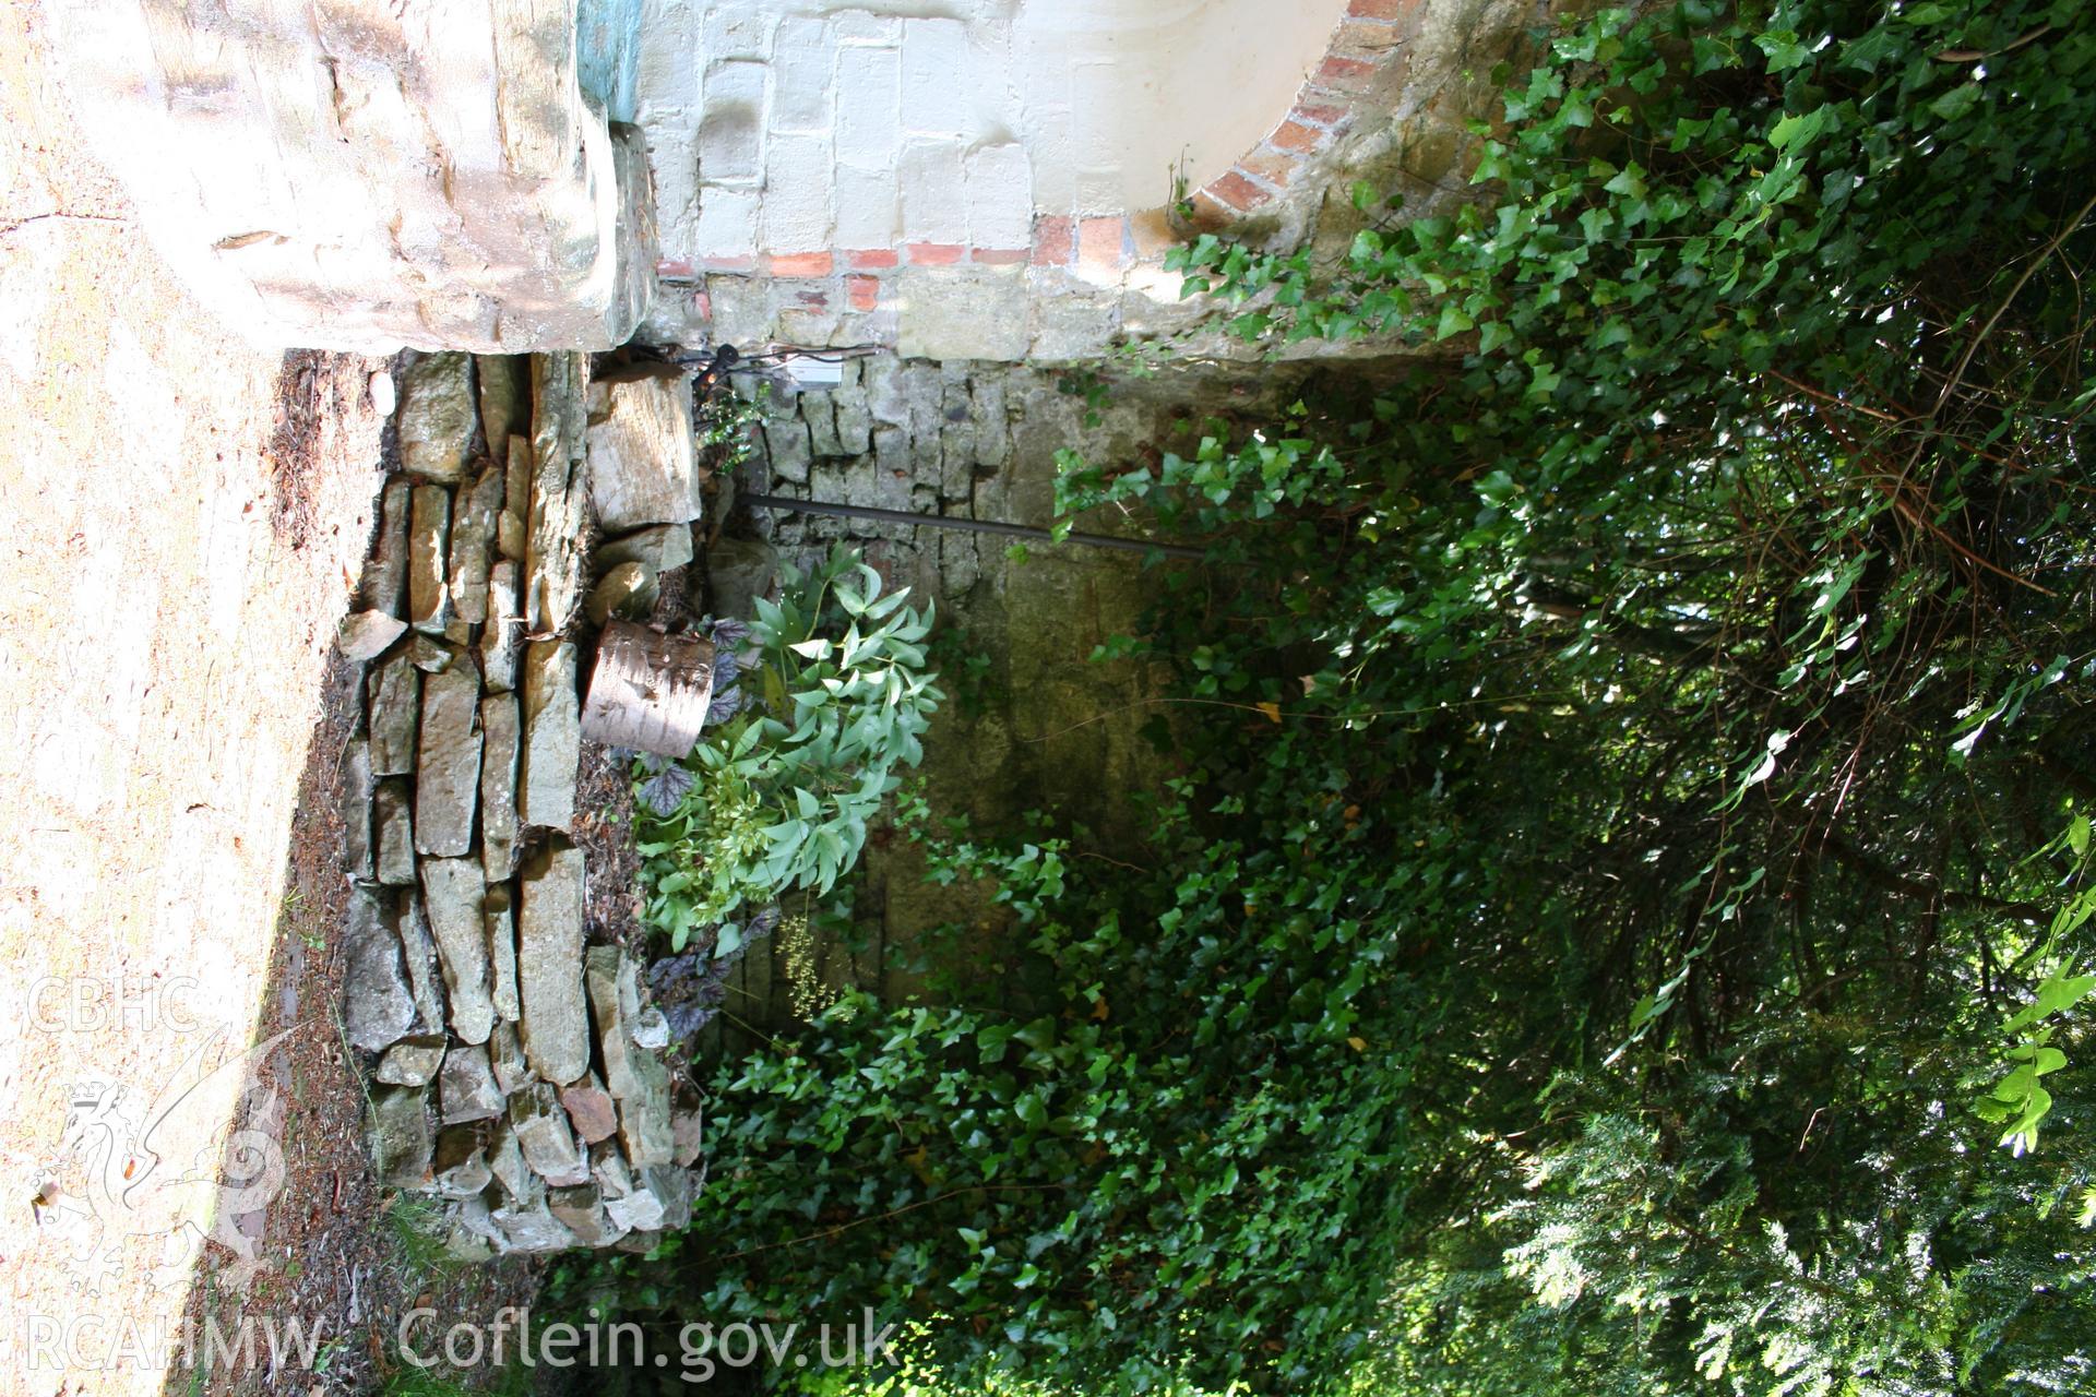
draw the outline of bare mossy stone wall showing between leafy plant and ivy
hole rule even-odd
[[[1191,454],[1199,419],[1270,411],[1302,371],[1184,367],[1117,379],[1111,400],[1094,379],[994,364],[891,356],[845,364],[843,383],[792,392],[773,381],[744,494],[901,509],[929,517],[1048,526],[1054,457],[1071,448],[1100,463]],[[744,396],[757,381],[738,385]],[[1184,425],[1178,425],[1184,423]],[[1205,589],[1203,563],[1084,545],[1044,545],[931,526],[734,509],[729,534],[769,540],[784,563],[809,566],[849,542],[895,586],[939,609],[933,656],[947,702],[924,741],[922,785],[935,817],[968,815],[1008,827],[1044,811],[1090,831],[1073,852],[1119,859],[1144,819],[1132,790],[1157,790],[1172,769],[1161,677],[1138,660],[1094,660],[1140,626],[1170,574]],[[1082,532],[1140,536],[1140,515],[1092,515]],[[811,903],[813,909],[813,903]],[[750,949],[729,978],[727,1010],[752,1026],[805,1018],[845,984],[901,999],[922,932],[962,924],[994,974],[1002,909],[970,888],[922,878],[905,838],[876,834],[853,886],[853,924],[796,924]],[[723,1020],[708,1041],[742,1047]]]

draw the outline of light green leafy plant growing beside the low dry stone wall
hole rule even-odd
[[[941,700],[922,647],[931,614],[905,599],[845,547],[805,578],[788,568],[778,603],[759,599],[738,660],[752,708],[692,748],[696,779],[671,808],[635,813],[646,922],[675,949],[744,903],[828,894],[859,861]],[[654,779],[637,773],[639,788]]]

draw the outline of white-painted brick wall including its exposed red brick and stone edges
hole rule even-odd
[[[648,2],[654,337],[1006,362],[1195,323],[1161,266],[1193,232],[1350,239],[1327,191],[1385,182],[1421,121],[1461,157],[1480,73],[1534,19],[1520,0],[1203,0],[1172,25],[1107,0]]]

